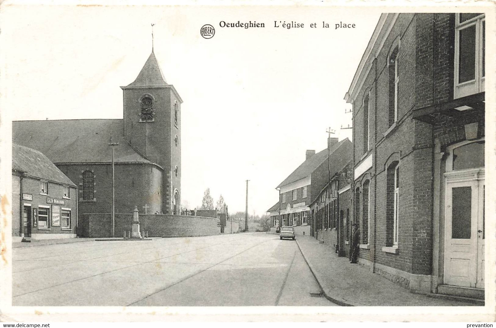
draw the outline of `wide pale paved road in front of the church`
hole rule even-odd
[[[15,248],[12,271],[14,306],[336,306],[268,233]]]

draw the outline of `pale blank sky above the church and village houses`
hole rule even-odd
[[[2,6],[3,119],[122,118],[120,86],[154,50],[182,105],[182,202],[209,187],[262,215],[305,151],[351,139],[348,90],[381,11],[316,6]],[[256,21],[265,28],[221,28]],[[304,28],[274,28],[274,21]],[[279,23],[280,21],[280,23]],[[330,28],[322,28],[322,21]],[[335,29],[336,23],[355,28]],[[316,28],[310,24],[316,23]],[[214,26],[212,39],[200,28]],[[4,111],[5,110],[5,111]],[[7,112],[7,114],[5,114]],[[77,133],[77,131],[75,131]],[[110,150],[109,150],[110,151]]]

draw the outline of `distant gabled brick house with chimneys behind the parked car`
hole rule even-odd
[[[280,194],[281,226],[293,225],[297,234],[305,232],[313,235],[315,224],[310,224],[310,219],[313,219],[310,218],[310,204],[327,183],[330,174],[335,172],[329,171],[329,154],[336,159],[348,156],[349,160],[351,152],[352,143],[348,138],[339,142],[338,138],[328,138],[327,148],[317,154],[314,150],[307,150],[305,162],[276,188]]]

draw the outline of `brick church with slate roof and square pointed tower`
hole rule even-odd
[[[12,142],[45,154],[78,187],[80,214],[111,213],[113,151],[116,213],[180,214],[183,100],[153,50],[121,89],[122,119],[14,121]]]

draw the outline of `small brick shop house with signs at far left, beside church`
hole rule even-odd
[[[77,187],[42,153],[12,144],[12,240],[73,238]]]

